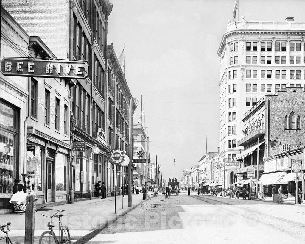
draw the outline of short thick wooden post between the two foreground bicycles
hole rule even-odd
[[[25,210],[24,243],[34,244],[35,231],[35,195],[27,195]]]

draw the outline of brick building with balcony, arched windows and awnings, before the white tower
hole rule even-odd
[[[243,137],[237,142],[238,146],[244,147],[244,151],[235,158],[240,163],[240,168],[235,173],[243,175],[239,183],[249,183],[250,179],[246,178],[248,167],[254,166],[257,169],[259,145],[261,190],[271,196],[282,184],[284,194],[294,194],[293,177],[289,174],[292,160],[303,160],[304,101],[305,92],[302,87],[287,87],[274,95],[262,97],[245,113],[242,120]],[[301,183],[301,186],[304,187],[304,184]]]

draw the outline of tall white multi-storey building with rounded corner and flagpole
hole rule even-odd
[[[266,94],[303,87],[305,23],[228,21],[217,55],[220,57],[219,166],[225,165],[225,186],[239,168],[234,158],[243,147],[244,114]],[[235,165],[236,164],[236,165]]]

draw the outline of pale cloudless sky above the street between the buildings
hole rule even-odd
[[[217,50],[234,0],[110,0],[108,45],[126,45],[125,77],[145,104],[150,159],[164,179],[181,179],[219,146],[220,62]],[[239,0],[239,19],[305,22],[304,0]],[[145,121],[145,123],[144,123]],[[207,136],[207,144],[206,144]],[[175,157],[175,164],[174,164]]]

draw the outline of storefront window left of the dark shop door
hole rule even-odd
[[[26,174],[38,175],[37,190],[41,191],[41,156],[42,148],[27,144]]]

